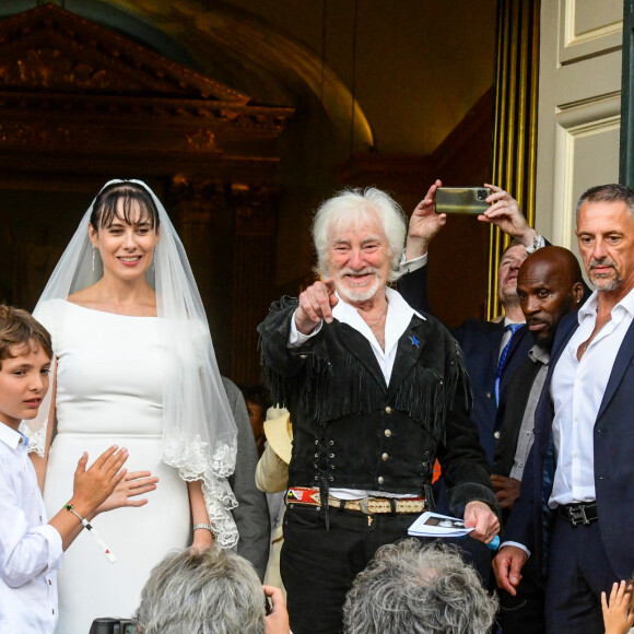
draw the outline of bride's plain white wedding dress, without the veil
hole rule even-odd
[[[57,436],[44,500],[52,517],[72,496],[83,451],[89,466],[111,445],[127,447],[128,471],[160,478],[141,508],[97,516],[95,528],[117,557],[105,554],[83,530],[59,573],[58,634],[87,634],[98,617],[130,618],[155,566],[190,539],[187,484],[161,462],[163,385],[178,363],[165,345],[164,320],[129,317],[54,300],[38,310],[49,329],[57,366]]]

